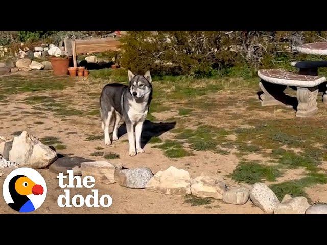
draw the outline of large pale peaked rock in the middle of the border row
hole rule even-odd
[[[188,195],[191,194],[190,174],[188,171],[170,166],[165,171],[158,171],[145,188],[167,195]]]

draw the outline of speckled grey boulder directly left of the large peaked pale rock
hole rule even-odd
[[[149,168],[118,169],[114,173],[114,178],[119,185],[133,189],[144,189],[152,177]]]

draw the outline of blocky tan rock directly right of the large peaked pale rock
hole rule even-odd
[[[226,190],[224,182],[209,176],[198,176],[191,180],[191,193],[195,197],[222,199]]]

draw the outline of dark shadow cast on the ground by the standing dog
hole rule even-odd
[[[144,148],[152,137],[158,137],[161,134],[175,128],[175,125],[176,122],[151,122],[149,120],[145,120],[141,134],[141,147]],[[126,133],[126,125],[124,123],[118,128],[118,138]]]

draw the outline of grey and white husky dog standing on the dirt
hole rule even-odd
[[[150,71],[142,76],[128,70],[128,79],[129,86],[119,83],[104,86],[100,96],[100,114],[105,145],[111,145],[110,123],[114,121],[112,140],[115,141],[118,140],[119,122],[123,119],[128,134],[129,155],[135,156],[136,153],[144,152],[141,148],[141,132],[152,98],[152,78]]]

